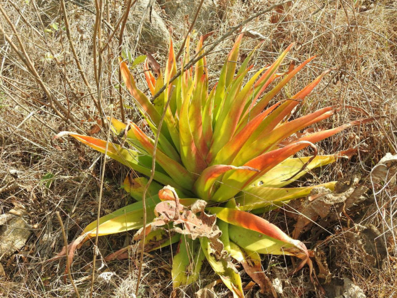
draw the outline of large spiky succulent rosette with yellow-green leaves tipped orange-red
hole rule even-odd
[[[177,73],[177,62],[170,41],[165,70],[156,69],[157,78],[145,62],[145,78],[152,96],[166,86],[154,101],[138,89],[127,64],[120,61],[125,87],[154,137],[145,134],[135,123],[109,119],[115,135],[122,138],[122,145],[109,143],[107,155],[141,176],[127,177],[124,181],[124,188],[137,202],[101,217],[98,229],[98,235],[141,229],[135,238],[139,240],[145,233],[147,251],[179,242],[172,264],[173,285],[196,280],[207,259],[234,297],[243,297],[235,262],[242,263],[262,290],[267,286],[269,280],[260,268],[259,254],[297,257],[302,261],[296,270],[308,264],[311,272],[312,263],[305,245],[256,214],[307,196],[318,185],[287,186],[311,169],[352,153],[347,150],[317,155],[313,143],[369,121],[299,133],[338,110],[326,106],[307,115],[292,116],[328,71],[296,94],[279,100],[280,91],[314,56],[296,67],[291,65],[287,72],[278,73],[293,47],[291,44],[272,65],[247,78],[253,69],[249,62],[255,49],[238,67],[242,37],[240,34],[236,38],[215,84],[209,81],[205,56],[186,67],[190,61],[189,38],[181,61],[182,74],[171,82]],[[195,52],[196,55],[204,52],[203,39],[198,41]],[[274,86],[270,87],[272,83]],[[65,134],[105,152],[105,140],[70,132],[60,133],[58,137]],[[312,156],[295,156],[306,147],[313,148]],[[148,182],[145,176],[151,175],[154,150],[155,182],[146,195],[148,224],[143,228],[142,198]],[[335,182],[320,186],[333,190]],[[96,226],[96,221],[89,224],[69,245],[70,258],[77,247],[96,235]],[[64,254],[62,251],[58,256]],[[108,259],[126,256],[124,249]]]

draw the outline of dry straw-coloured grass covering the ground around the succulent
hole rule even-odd
[[[56,1],[43,3],[44,5],[41,1],[19,0],[16,3],[18,12],[10,1],[0,1],[44,86],[66,110],[70,111],[70,119],[75,121],[66,123],[61,116],[64,117],[65,114],[60,112],[61,115],[58,115],[51,108],[51,99],[43,91],[38,78],[31,75],[21,58],[0,35],[0,189],[14,182],[18,183],[17,187],[0,193],[0,208],[2,214],[13,208],[25,208],[24,219],[32,226],[32,233],[21,251],[11,256],[0,256],[0,262],[6,272],[6,276],[0,276],[0,296],[4,297],[75,296],[70,282],[64,282],[63,262],[44,262],[63,246],[55,211],[61,213],[69,241],[96,218],[97,212],[101,157],[77,143],[68,141],[54,146],[51,142],[51,138],[62,130],[80,129],[88,132],[100,118],[93,103],[93,98],[99,97],[93,68],[92,31],[95,16],[79,6],[67,3],[73,42],[82,69],[93,90],[91,96],[72,56],[62,27],[59,5]],[[92,3],[83,3],[86,8],[95,11]],[[109,6],[108,22],[113,26],[123,12],[122,3],[121,0],[113,1]],[[215,35],[209,37],[206,44],[216,40],[230,26],[268,7],[270,2],[238,0],[233,4],[225,3],[225,19],[214,24]],[[105,10],[105,19],[106,12]],[[164,12],[159,13],[164,17]],[[299,62],[314,54],[318,57],[289,84],[283,95],[288,96],[289,92],[298,90],[323,70],[335,68],[309,97],[301,109],[302,112],[329,104],[344,107],[338,116],[322,124],[327,127],[368,115],[377,117],[377,121],[372,125],[321,142],[319,147],[325,153],[355,147],[358,149],[358,155],[349,162],[327,168],[317,179],[339,179],[358,171],[362,174],[362,183],[373,192],[378,192],[376,199],[379,208],[373,204],[374,199],[370,198],[365,206],[357,208],[349,215],[355,223],[372,224],[381,232],[379,239],[387,245],[387,256],[382,266],[373,270],[373,266],[363,259],[360,248],[346,239],[345,232],[349,229],[343,215],[338,225],[328,228],[332,235],[319,234],[319,238],[313,240],[309,234],[304,234],[301,240],[308,240],[309,247],[320,241],[325,241],[323,249],[332,246],[335,254],[328,255],[331,273],[336,278],[349,276],[368,297],[397,295],[397,230],[393,221],[397,211],[396,189],[395,185],[390,184],[381,189],[376,186],[372,189],[369,175],[372,167],[386,152],[397,153],[397,5],[393,1],[299,0],[291,7],[286,7],[286,13],[279,16],[278,22],[275,22],[276,17],[275,14],[267,14],[248,24],[247,29],[266,37],[255,56],[254,69],[273,62],[282,49],[296,41],[300,46],[290,54],[289,58],[292,61]],[[167,25],[173,25],[172,21],[172,18],[167,20]],[[51,27],[54,23],[58,24],[60,30]],[[17,43],[17,37],[12,34],[12,28],[5,18],[0,18],[0,24],[12,37],[13,42]],[[102,27],[103,41],[106,41],[109,31],[106,25]],[[173,35],[175,44],[178,45],[183,40],[183,30],[187,28],[180,24],[173,27],[177,29]],[[220,69],[219,61],[223,61],[221,57],[227,53],[232,42],[231,39],[223,41],[209,55],[210,77],[217,76]],[[252,49],[257,42],[255,38],[244,38],[241,53]],[[126,38],[124,45],[127,49],[131,48],[134,41]],[[143,48],[138,47],[138,51],[133,54],[137,56],[143,51]],[[102,55],[100,96],[104,114],[110,114],[111,103],[115,107],[118,106],[118,93],[123,92],[114,88],[118,84],[117,52],[115,38]],[[155,56],[160,63],[164,62],[165,56],[161,51]],[[138,68],[137,77],[142,81],[142,73],[139,74],[139,71]],[[69,83],[65,81],[66,78]],[[122,95],[124,104],[133,105],[125,92]],[[119,116],[119,113],[119,109],[114,108],[113,114]],[[127,110],[127,116],[139,120],[135,110]],[[104,137],[105,133],[100,132],[99,135]],[[126,168],[115,162],[107,163],[101,215],[128,202],[128,197],[119,187],[126,171]],[[48,181],[43,181],[43,177],[48,173],[53,175],[51,185],[47,185],[49,187],[46,186]],[[286,219],[280,216],[280,213],[272,213],[270,216],[277,217],[280,226],[289,226],[289,231],[292,231],[291,225],[286,223]],[[105,256],[129,244],[130,235],[126,232],[122,235],[101,237],[101,255]],[[175,249],[164,249],[145,257],[142,296],[166,297],[171,294],[170,259]],[[98,256],[99,265],[101,255]],[[85,245],[78,250],[73,264],[73,277],[82,297],[89,296],[92,257],[92,245]],[[115,275],[109,283],[97,280],[93,296],[130,297],[137,282],[137,262],[135,258],[104,264],[99,273],[108,271],[114,272]],[[271,278],[277,277],[285,282],[290,279],[291,295],[294,291],[295,295],[302,291],[305,297],[315,295],[308,283],[307,271],[302,270],[291,279],[286,277],[286,269],[282,269],[286,265],[291,267],[290,259],[265,257],[263,261],[263,266]],[[203,274],[197,284],[187,287],[180,295],[192,297],[198,288],[211,283],[214,276],[210,272],[211,270],[205,269],[204,273],[208,274]],[[228,295],[222,287],[218,286],[216,289],[219,296]],[[248,295],[254,295],[255,292],[256,288],[253,288]]]

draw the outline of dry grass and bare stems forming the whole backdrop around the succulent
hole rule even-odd
[[[0,296],[76,295],[70,282],[65,282],[64,263],[45,261],[63,246],[56,211],[69,242],[96,219],[103,157],[73,140],[53,142],[52,137],[66,130],[105,138],[101,118],[110,114],[144,126],[119,84],[117,57],[121,53],[129,59],[141,84],[142,59],[137,57],[149,52],[163,66],[169,34],[179,50],[199,2],[70,0],[63,10],[62,2],[55,0],[0,1]],[[124,27],[128,3],[131,7]],[[231,27],[275,3],[206,0],[194,22],[193,38],[213,32],[205,42],[211,44]],[[318,225],[300,237],[308,247],[317,249],[316,271],[329,297],[341,296],[346,289],[353,289],[356,296],[346,292],[341,297],[397,296],[397,158],[386,163],[387,175],[382,181],[371,175],[387,152],[397,153],[396,20],[397,2],[392,0],[296,0],[260,15],[243,28],[247,32],[239,62],[262,42],[253,71],[273,62],[291,42],[298,46],[288,56],[286,69],[291,61],[318,55],[283,91],[285,96],[323,70],[334,69],[310,95],[302,113],[325,105],[341,106],[338,116],[323,124],[327,128],[376,117],[371,125],[347,130],[319,146],[324,153],[354,147],[357,154],[313,172],[313,181],[354,181],[354,187],[363,190],[350,208],[340,212],[332,206]],[[235,34],[218,43],[208,56],[210,79],[219,73]],[[120,188],[127,170],[114,161],[107,162],[101,215],[128,202]],[[295,208],[299,202],[294,203]],[[287,232],[297,218],[287,208],[266,216]],[[130,241],[129,232],[100,237],[100,259]],[[142,297],[190,297],[205,286],[220,297],[229,295],[224,287],[214,287],[212,274],[203,274],[198,283],[173,292],[172,249],[175,247],[146,256]],[[89,296],[92,257],[92,246],[85,245],[73,264],[81,296]],[[137,262],[137,258],[99,262],[98,273],[104,274],[95,281],[93,296],[131,297]],[[287,276],[287,269],[292,268],[288,258],[266,257],[263,268],[280,297],[319,295],[309,282],[308,269]],[[244,285],[247,296],[260,295],[246,276]]]

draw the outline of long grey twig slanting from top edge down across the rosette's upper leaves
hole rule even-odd
[[[186,70],[188,70],[193,64],[195,64],[197,61],[199,61],[201,58],[203,58],[204,56],[207,56],[221,41],[225,40],[226,38],[228,38],[229,36],[231,36],[233,34],[234,31],[236,31],[238,28],[244,26],[245,24],[247,24],[248,22],[252,21],[253,19],[259,17],[260,15],[264,14],[264,13],[268,13],[270,11],[272,11],[274,8],[276,8],[277,6],[280,5],[284,5],[286,3],[291,2],[292,0],[287,0],[287,1],[283,1],[280,3],[277,3],[275,5],[272,5],[271,7],[265,9],[265,10],[261,10],[260,12],[250,16],[248,19],[245,19],[244,21],[238,23],[236,26],[233,26],[228,32],[226,32],[225,34],[223,34],[221,37],[219,37],[216,41],[213,42],[213,44],[210,46],[210,48],[208,50],[206,50],[205,52],[203,52],[203,54],[197,56],[195,58],[192,58],[184,67],[182,70],[178,71],[169,81],[169,83],[172,83],[173,81],[175,81],[182,73],[184,73]],[[197,53],[198,54],[198,53]],[[164,91],[164,89],[166,88],[166,85],[163,85],[163,87],[160,88],[160,90],[152,96],[152,98],[150,99],[151,101],[155,100],[157,97],[160,96],[160,94]]]

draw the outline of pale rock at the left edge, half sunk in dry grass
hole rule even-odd
[[[16,217],[4,224],[0,230],[0,256],[9,256],[20,250],[30,236],[30,229],[22,217]]]

